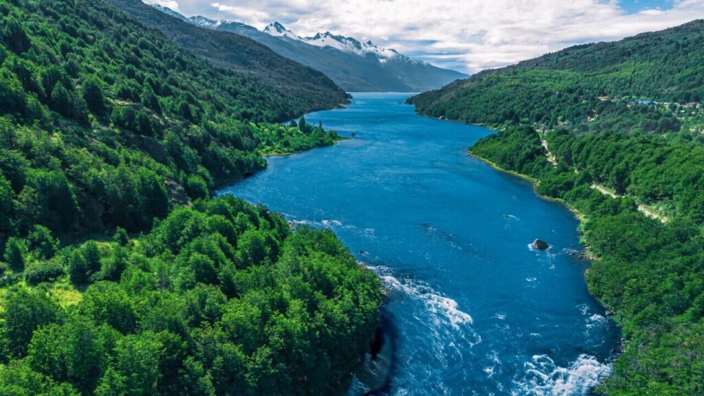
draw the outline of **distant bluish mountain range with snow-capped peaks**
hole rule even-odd
[[[322,71],[346,91],[424,92],[468,77],[409,58],[394,49],[331,32],[301,37],[277,22],[261,31],[244,23],[203,16],[186,18],[170,8],[153,7],[199,27],[249,37],[279,55]]]

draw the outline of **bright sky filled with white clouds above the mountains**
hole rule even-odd
[[[371,39],[466,73],[704,18],[704,0],[145,1],[260,29],[276,20],[301,36]]]

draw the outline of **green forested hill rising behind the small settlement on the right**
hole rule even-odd
[[[703,34],[704,21],[696,20],[619,42],[584,44],[485,70],[410,102],[420,113],[468,123],[515,118],[555,124],[550,117],[556,116],[574,124],[594,115],[596,100],[700,101]]]

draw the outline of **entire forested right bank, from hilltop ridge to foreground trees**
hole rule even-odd
[[[590,290],[626,338],[601,393],[704,394],[703,67],[698,20],[411,99],[429,116],[501,128],[470,152],[583,215]]]

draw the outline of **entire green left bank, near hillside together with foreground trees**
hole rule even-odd
[[[210,199],[262,154],[337,140],[275,123],[314,106],[279,88],[103,0],[0,0],[1,395],[344,383],[376,278],[331,233]]]

